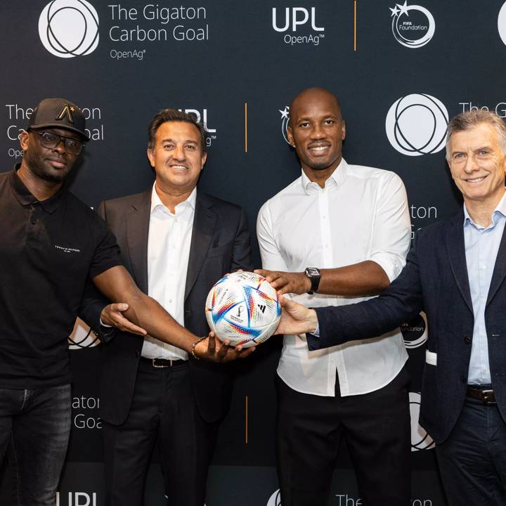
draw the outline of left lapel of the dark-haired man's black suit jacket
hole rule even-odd
[[[139,195],[126,214],[126,242],[137,286],[148,293],[148,232],[152,189]]]

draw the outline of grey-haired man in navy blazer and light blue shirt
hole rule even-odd
[[[429,337],[420,424],[436,441],[448,502],[506,504],[506,124],[464,112],[446,159],[463,209],[417,233],[406,267],[380,297],[306,309],[283,301],[280,333],[310,350],[382,335],[420,311]]]

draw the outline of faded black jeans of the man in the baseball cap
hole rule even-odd
[[[0,462],[13,444],[13,505],[54,506],[70,434],[70,384],[0,389]],[[10,505],[9,505],[10,506]]]

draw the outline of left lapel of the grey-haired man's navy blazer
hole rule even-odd
[[[448,259],[450,260],[450,266],[458,289],[469,311],[473,312],[465,259],[463,212],[456,214],[450,221],[448,233],[446,234],[446,251],[448,252]]]

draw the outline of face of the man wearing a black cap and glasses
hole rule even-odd
[[[81,142],[79,135],[65,129],[44,129],[58,136],[74,138]],[[22,164],[36,179],[50,183],[62,183],[77,160],[77,155],[65,151],[63,141],[56,148],[46,148],[41,144],[37,131],[24,131],[20,136],[20,145],[24,151]]]

